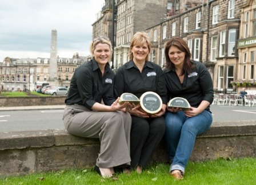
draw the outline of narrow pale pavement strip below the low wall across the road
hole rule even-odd
[[[64,109],[65,106],[66,106],[66,105],[0,106],[0,111],[6,111],[6,110]]]

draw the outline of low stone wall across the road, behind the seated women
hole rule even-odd
[[[0,106],[64,105],[66,96],[0,97]]]

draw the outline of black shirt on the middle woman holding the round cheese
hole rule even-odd
[[[133,60],[119,67],[115,74],[114,86],[115,97],[127,92],[139,98],[143,93],[152,91],[162,98],[163,104],[167,104],[165,76],[162,68],[151,61],[146,61],[142,72]]]

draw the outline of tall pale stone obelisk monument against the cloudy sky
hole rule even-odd
[[[57,30],[51,30],[50,85],[58,86],[57,79]]]

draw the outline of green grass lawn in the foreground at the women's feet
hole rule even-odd
[[[117,173],[118,180],[103,179],[92,168],[63,170],[45,174],[12,176],[0,179],[0,184],[256,184],[256,158],[218,159],[189,162],[183,180],[169,175],[169,165],[145,168],[142,174]]]

